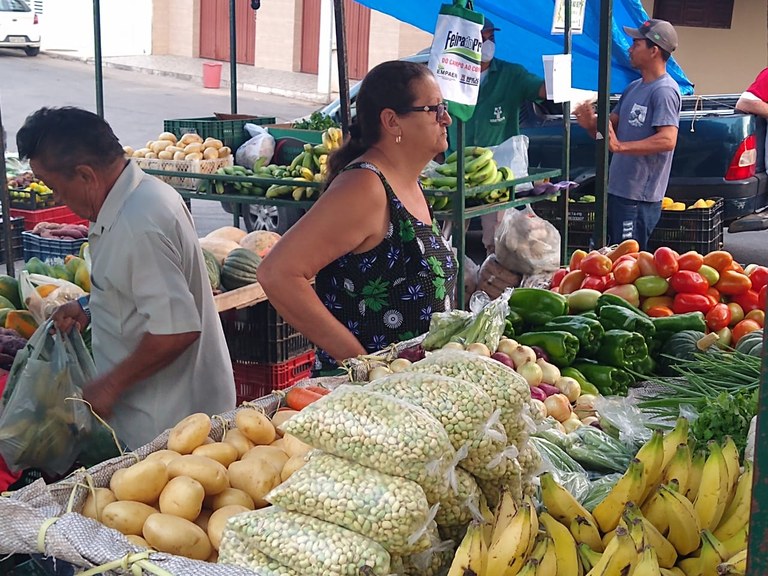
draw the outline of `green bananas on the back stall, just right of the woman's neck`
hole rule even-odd
[[[455,191],[458,187],[458,153],[451,153],[443,164],[435,168],[440,174],[436,177],[422,177],[421,184],[429,190]],[[485,202],[508,202],[510,188],[489,189],[473,194],[471,188],[499,184],[514,179],[512,170],[507,166],[498,166],[493,158],[493,150],[480,146],[464,149],[464,186],[469,188],[468,198]],[[435,210],[447,208],[449,196],[431,196],[431,205]]]

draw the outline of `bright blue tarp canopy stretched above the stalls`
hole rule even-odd
[[[357,0],[360,4],[412,24],[430,34],[440,6],[446,0]],[[447,0],[448,2],[450,0]],[[490,17],[497,28],[496,56],[522,64],[533,73],[544,76],[543,54],[563,51],[563,36],[553,36],[552,14],[555,0],[476,0],[474,10]],[[611,92],[620,93],[631,81],[640,77],[629,64],[629,38],[623,26],[638,27],[648,19],[640,0],[613,0],[613,52]],[[598,55],[600,50],[600,2],[587,0],[584,31],[573,36],[573,78],[575,88],[597,90]],[[683,94],[692,94],[693,85],[674,57],[667,72],[680,85]]]

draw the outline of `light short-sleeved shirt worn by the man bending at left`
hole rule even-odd
[[[99,374],[147,333],[200,332],[170,365],[134,384],[110,425],[129,448],[194,412],[235,407],[227,344],[192,216],[173,188],[129,162],[88,235],[93,351]]]

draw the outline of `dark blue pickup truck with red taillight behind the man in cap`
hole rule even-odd
[[[680,201],[722,197],[726,223],[768,206],[766,121],[736,112],[737,100],[735,94],[683,97],[666,194]],[[520,123],[529,138],[529,166],[561,166],[562,108],[552,102],[529,103]],[[579,193],[592,194],[595,141],[573,116],[571,125],[570,179],[580,184]]]

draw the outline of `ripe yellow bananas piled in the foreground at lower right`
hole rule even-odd
[[[688,421],[655,432],[589,512],[550,473],[545,510],[504,494],[473,524],[449,576],[737,576],[747,563],[752,465],[733,440],[692,456]]]

